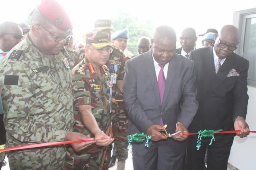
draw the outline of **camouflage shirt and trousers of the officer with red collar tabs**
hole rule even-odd
[[[72,69],[73,74],[73,97],[75,108],[74,132],[84,135],[90,134],[83,125],[79,115],[80,105],[91,105],[98,126],[106,132],[110,124],[109,99],[110,90],[107,88],[107,81],[110,81],[110,74],[107,68],[101,67],[101,77],[90,71],[90,64],[85,58]],[[105,70],[106,69],[106,70]],[[75,152],[67,148],[66,164],[67,169],[72,170],[99,170],[104,147],[91,145],[82,151]],[[111,150],[107,151],[104,161],[104,168],[107,170],[110,162]]]

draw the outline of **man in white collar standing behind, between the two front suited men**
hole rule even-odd
[[[176,49],[176,53],[188,58],[190,52],[196,46],[196,31],[193,28],[185,28],[180,35],[181,47]]]

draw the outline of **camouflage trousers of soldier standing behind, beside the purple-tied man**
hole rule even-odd
[[[117,105],[112,105],[111,121],[113,123],[113,138],[126,137],[128,127],[128,117],[123,109],[123,102]],[[114,143],[117,147],[117,159],[118,161],[125,161],[128,158],[128,141],[127,139],[115,139]]]

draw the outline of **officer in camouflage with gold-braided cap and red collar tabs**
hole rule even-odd
[[[75,105],[74,131],[84,135],[94,136],[106,132],[111,135],[110,127],[110,93],[112,83],[110,72],[104,66],[112,52],[108,34],[94,31],[86,34],[85,58],[72,69],[73,97]],[[95,118],[88,116],[93,115]],[[99,128],[92,128],[98,124]],[[72,170],[99,170],[101,160],[104,159],[104,147],[114,139],[76,152],[72,148],[67,150],[67,166]],[[103,170],[107,170],[110,162],[111,151],[107,151],[104,159]]]

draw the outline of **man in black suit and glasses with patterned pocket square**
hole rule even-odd
[[[249,62],[233,53],[239,42],[238,29],[225,25],[215,36],[213,47],[200,48],[190,53],[195,62],[197,101],[199,108],[190,133],[199,130],[241,130],[238,136],[249,133],[245,121],[247,114],[247,72]],[[199,151],[197,137],[189,138],[188,170],[202,170],[205,150],[208,147],[208,170],[227,170],[233,134],[215,134],[215,141],[203,138]]]

